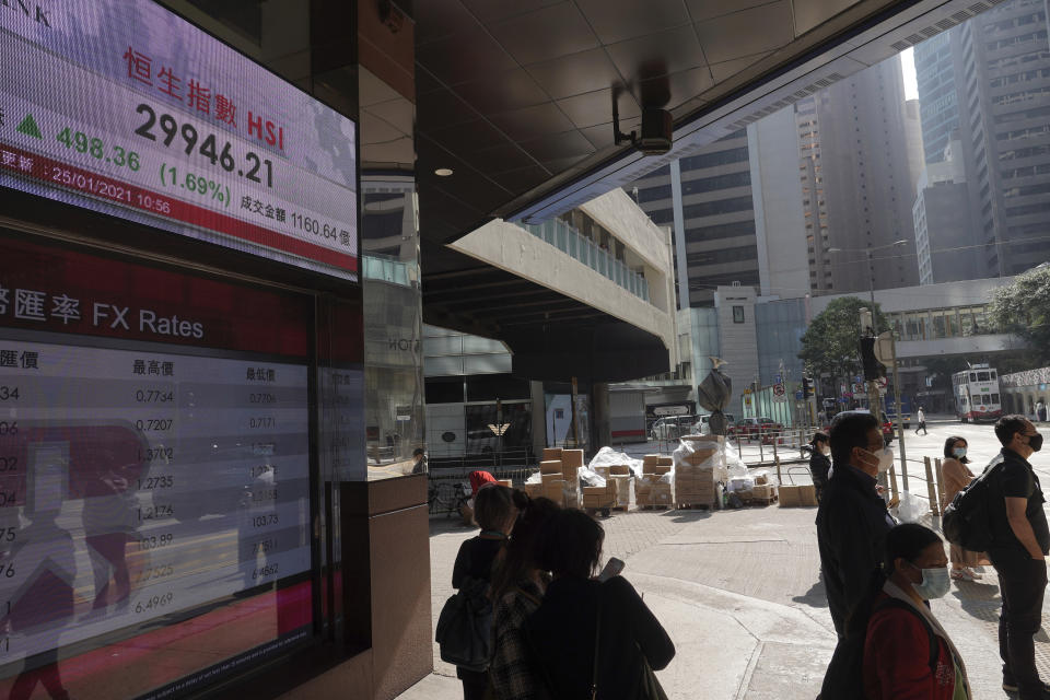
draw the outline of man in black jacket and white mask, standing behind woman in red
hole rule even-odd
[[[840,415],[831,425],[832,472],[817,511],[820,572],[839,644],[824,700],[847,698],[860,678],[871,603],[882,587],[886,533],[895,525],[875,490],[883,434],[871,413]]]

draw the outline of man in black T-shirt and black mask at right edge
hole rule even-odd
[[[1039,478],[1028,458],[1042,448],[1042,435],[1024,416],[1004,416],[995,423],[1002,452],[985,467],[990,479],[988,514],[992,545],[988,557],[999,574],[1003,610],[999,617],[999,654],[1003,689],[1022,700],[1050,698],[1039,679],[1032,635],[1042,622],[1050,528]]]

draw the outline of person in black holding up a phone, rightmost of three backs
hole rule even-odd
[[[602,559],[602,525],[569,509],[551,517],[541,537],[539,564],[553,579],[525,630],[547,695],[646,697],[649,669],[665,668],[675,645],[623,576],[593,578]]]

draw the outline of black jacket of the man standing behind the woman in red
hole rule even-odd
[[[836,465],[817,511],[817,544],[828,607],[840,638],[849,635],[850,619],[871,602],[872,578],[882,571],[886,533],[892,526],[886,503],[875,492],[875,479],[849,465]]]

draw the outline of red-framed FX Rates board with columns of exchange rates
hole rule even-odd
[[[174,698],[310,639],[312,300],[0,249],[0,697]]]

